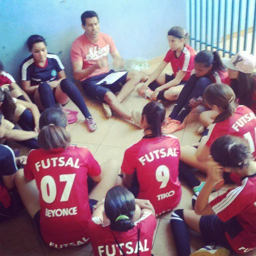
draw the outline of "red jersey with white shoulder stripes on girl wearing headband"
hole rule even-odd
[[[176,51],[169,50],[164,57],[166,63],[171,64],[172,71],[176,77],[179,70],[187,72],[183,77],[182,81],[187,81],[191,76],[192,69],[194,68],[194,60],[196,56],[196,51],[191,46],[185,44],[179,58],[175,56]]]

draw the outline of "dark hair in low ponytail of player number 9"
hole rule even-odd
[[[156,101],[149,102],[143,108],[142,116],[145,116],[149,129],[152,131],[152,136],[161,136],[161,126],[165,118],[165,108],[163,104]]]

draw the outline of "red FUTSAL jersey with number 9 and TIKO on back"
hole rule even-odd
[[[125,151],[121,170],[137,172],[138,198],[150,200],[156,216],[172,210],[181,199],[179,156],[179,141],[173,135],[145,136]]]

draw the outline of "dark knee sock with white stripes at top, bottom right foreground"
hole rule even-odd
[[[189,229],[184,221],[183,209],[172,212],[171,220],[172,236],[176,244],[179,256],[190,255]]]

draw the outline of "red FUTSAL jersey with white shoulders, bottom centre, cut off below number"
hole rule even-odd
[[[156,229],[155,216],[151,212],[144,212],[134,224],[133,229],[120,232],[111,230],[110,225],[102,226],[102,220],[99,217],[92,218],[89,230],[94,255],[123,255],[116,243],[118,241],[125,255],[137,255],[139,251],[140,255],[151,256],[154,230]]]

